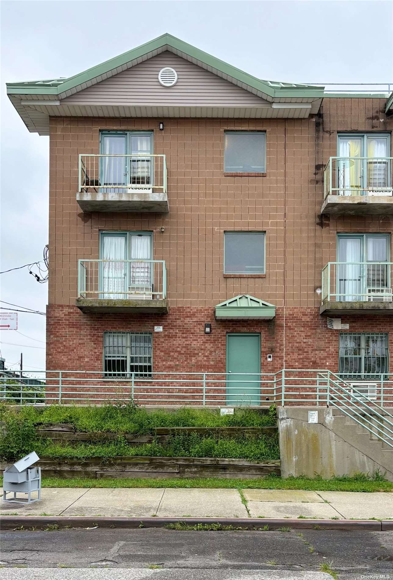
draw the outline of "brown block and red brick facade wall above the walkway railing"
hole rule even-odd
[[[281,368],[284,305],[286,367],[327,365],[335,370],[337,331],[326,330],[315,293],[322,267],[336,259],[338,232],[390,233],[392,218],[325,216],[321,227],[323,166],[337,154],[337,132],[391,130],[393,118],[385,118],[384,104],[384,99],[332,98],[309,119],[164,119],[164,131],[158,130],[162,119],[51,118],[47,368],[97,369],[104,330],[154,326],[148,315],[89,316],[73,306],[77,260],[99,257],[99,231],[148,230],[153,232],[154,258],[164,259],[168,270],[170,314],[155,320],[164,326],[162,335],[154,335],[155,357],[162,357],[155,360],[156,370],[169,364],[166,356],[177,343],[172,338],[180,338],[183,346],[170,364],[208,370],[216,365],[209,354],[212,345],[219,346],[223,365],[226,331],[257,327],[262,368]],[[155,153],[167,156],[169,215],[81,212],[76,201],[78,154],[99,153],[100,129],[154,131]],[[267,132],[266,176],[224,176],[226,129]],[[224,277],[225,230],[266,231],[265,277]],[[213,306],[240,293],[274,303],[275,322],[214,322],[213,335],[205,337],[203,323],[213,319]],[[352,317],[350,331],[388,331],[390,325],[388,317]],[[273,347],[274,360],[267,363]]]

